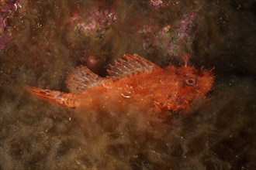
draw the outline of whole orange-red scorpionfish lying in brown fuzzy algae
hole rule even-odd
[[[213,89],[215,78],[213,69],[189,66],[189,58],[190,55],[185,54],[183,65],[161,67],[137,54],[125,54],[113,65],[109,64],[106,77],[98,76],[86,66],[77,66],[67,76],[68,93],[31,86],[26,86],[26,90],[55,104],[73,108],[100,105],[101,101],[96,100],[101,96],[105,100],[114,98],[120,105],[140,98],[138,102],[147,100],[158,110],[184,110],[196,98],[206,97]]]

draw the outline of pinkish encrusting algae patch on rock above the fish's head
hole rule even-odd
[[[193,36],[193,26],[195,25],[196,12],[185,12],[179,18],[177,26],[166,24],[157,26],[156,23],[144,25],[139,29],[138,35],[143,40],[144,50],[163,49],[168,58],[175,57],[180,60],[182,53],[189,53]]]

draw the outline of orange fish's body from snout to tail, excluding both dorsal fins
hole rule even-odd
[[[202,68],[196,70],[192,66],[187,66],[187,59],[185,59],[184,66],[155,67],[153,70],[133,73],[117,80],[112,80],[109,76],[106,77],[104,83],[81,93],[62,93],[37,87],[28,88],[37,96],[67,107],[78,107],[81,104],[90,107],[95,103],[99,105],[100,101],[95,101],[99,98],[95,96],[102,95],[108,100],[114,95],[119,104],[125,100],[142,98],[158,109],[175,111],[189,107],[195,98],[205,97],[213,87],[212,71]],[[55,93],[58,95],[54,96]]]

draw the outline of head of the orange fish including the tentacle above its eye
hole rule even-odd
[[[174,94],[165,105],[168,110],[185,109],[193,100],[206,97],[206,93],[213,88],[213,69],[206,70],[203,66],[196,69],[195,66],[189,66],[189,58],[190,55],[185,54],[182,56],[184,65],[168,67],[170,75],[173,75],[171,80],[176,85]]]

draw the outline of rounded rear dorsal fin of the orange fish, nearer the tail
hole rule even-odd
[[[92,73],[86,66],[77,66],[67,76],[67,88],[71,93],[79,93],[86,88],[102,83],[104,79]]]

